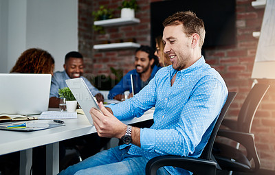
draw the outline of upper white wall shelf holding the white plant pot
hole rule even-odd
[[[101,21],[94,21],[94,25],[100,25],[103,27],[115,26],[115,25],[130,25],[135,23],[140,23],[140,19],[119,18],[119,19],[106,19]]]

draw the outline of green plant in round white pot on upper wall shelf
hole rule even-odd
[[[139,7],[135,0],[124,0],[119,8],[121,9],[121,18],[135,18],[135,11],[137,11]]]

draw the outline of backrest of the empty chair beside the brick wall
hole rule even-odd
[[[237,130],[240,132],[250,132],[252,121],[257,108],[263,100],[263,96],[270,88],[268,84],[255,84],[245,98],[238,115]]]

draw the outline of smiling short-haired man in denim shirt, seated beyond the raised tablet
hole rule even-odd
[[[87,78],[83,77],[83,56],[78,51],[70,51],[65,56],[65,64],[63,65],[64,71],[56,71],[52,77],[51,90],[50,90],[50,108],[58,108],[59,95],[58,89],[67,87],[65,80],[70,78],[83,78],[91,93],[96,97],[98,102],[103,102],[104,97],[96,89]]]

